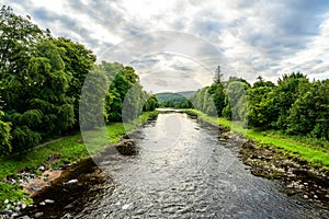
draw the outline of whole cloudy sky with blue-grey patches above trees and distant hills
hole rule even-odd
[[[42,28],[133,66],[147,90],[193,90],[224,77],[329,78],[328,0],[4,0]]]

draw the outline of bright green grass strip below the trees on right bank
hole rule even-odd
[[[329,146],[306,137],[293,137],[277,131],[259,131],[254,129],[243,129],[241,124],[236,124],[225,118],[212,117],[195,110],[189,110],[189,114],[198,115],[205,122],[230,128],[232,132],[243,135],[246,138],[257,142],[259,147],[274,146],[276,150],[284,151],[285,154],[299,157],[311,166],[322,166],[329,170]]]

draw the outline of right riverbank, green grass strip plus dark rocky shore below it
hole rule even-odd
[[[302,193],[304,198],[329,203],[328,149],[273,131],[245,129],[240,124],[211,117],[195,110],[188,110],[186,113],[220,127],[224,140],[245,138],[240,140],[239,157],[251,166],[253,175],[284,182],[288,195]]]

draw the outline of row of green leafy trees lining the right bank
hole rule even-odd
[[[231,77],[198,90],[191,101],[196,110],[249,128],[329,140],[329,79],[309,81],[292,72],[277,84],[259,77],[251,85]]]

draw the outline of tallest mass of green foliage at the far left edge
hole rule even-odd
[[[1,127],[9,130],[11,123],[11,137],[5,139],[13,151],[21,151],[76,123],[73,99],[67,95],[72,73],[66,71],[64,50],[48,32],[10,8],[3,7],[0,16],[0,91],[7,124]]]

